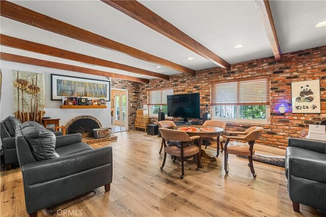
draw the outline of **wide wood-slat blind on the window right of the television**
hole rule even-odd
[[[270,76],[211,83],[211,105],[269,105]]]

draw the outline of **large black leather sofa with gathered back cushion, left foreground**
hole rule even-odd
[[[30,216],[103,185],[110,191],[110,146],[93,149],[80,134],[55,137],[33,123],[23,123],[16,130],[16,147]]]

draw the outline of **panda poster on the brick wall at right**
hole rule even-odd
[[[320,113],[319,80],[292,82],[292,113]]]

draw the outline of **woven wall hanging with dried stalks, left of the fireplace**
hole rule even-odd
[[[44,74],[12,71],[13,112],[21,122],[42,123],[45,114]]]

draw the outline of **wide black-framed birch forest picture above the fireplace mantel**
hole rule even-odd
[[[111,100],[111,81],[51,74],[51,100],[62,97],[104,98]]]

